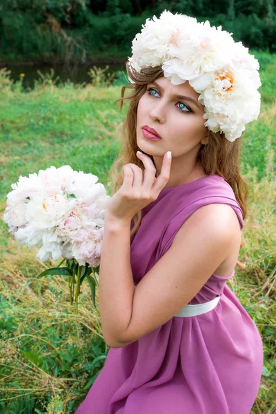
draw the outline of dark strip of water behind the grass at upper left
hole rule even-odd
[[[60,78],[60,81],[66,82],[68,79],[73,83],[90,83],[91,77],[88,75],[88,70],[92,68],[94,65],[90,64],[90,66],[41,66],[41,65],[6,65],[5,67],[10,70],[10,78],[15,82],[19,81],[19,79],[23,78],[23,88],[25,89],[33,89],[34,88],[34,79],[39,79],[39,74],[37,70],[39,70],[43,75],[47,73],[50,74],[51,68],[55,70],[54,79],[56,77]],[[124,63],[121,64],[109,64],[109,68],[107,72],[115,73],[119,70],[125,70],[126,66]],[[106,64],[99,64],[97,65],[99,68],[106,68]],[[23,76],[21,76],[21,74]]]

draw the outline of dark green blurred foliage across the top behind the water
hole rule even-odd
[[[208,19],[246,47],[276,52],[273,0],[6,0],[0,3],[0,57],[85,62],[130,55],[145,19],[164,9]]]

